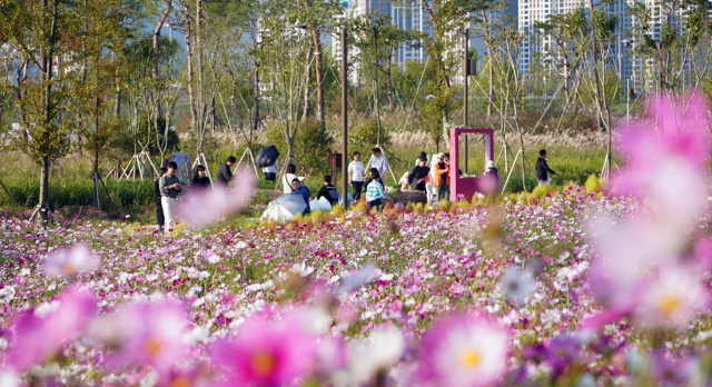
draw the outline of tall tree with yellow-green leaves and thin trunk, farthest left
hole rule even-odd
[[[71,97],[67,80],[80,64],[77,39],[81,21],[77,4],[59,0],[0,0],[0,34],[37,72],[17,85],[24,136],[13,146],[40,167],[39,205],[42,219],[49,209],[50,166],[69,151],[71,122],[62,112]]]

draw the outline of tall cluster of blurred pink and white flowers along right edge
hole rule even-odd
[[[584,322],[593,328],[633,310],[655,327],[684,326],[709,298],[689,267],[695,260],[689,259],[690,231],[708,197],[708,105],[699,96],[678,102],[661,97],[649,112],[657,131],[643,121],[623,128],[627,163],[613,178],[614,194],[650,199],[649,209],[592,227],[599,257],[591,286],[607,308]]]

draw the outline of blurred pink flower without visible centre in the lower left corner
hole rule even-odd
[[[10,368],[21,371],[57,354],[89,324],[96,308],[93,296],[72,288],[60,296],[57,309],[42,318],[33,310],[16,317],[10,324],[12,344],[6,354]]]

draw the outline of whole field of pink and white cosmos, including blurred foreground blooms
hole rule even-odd
[[[603,191],[168,237],[0,220],[0,386],[709,385],[708,107],[684,105],[625,128]]]

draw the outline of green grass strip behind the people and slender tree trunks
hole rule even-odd
[[[552,169],[561,173],[561,178],[554,178],[553,183],[564,185],[567,181],[574,181],[578,185],[584,185],[589,176],[593,173],[600,173],[605,158],[605,149],[599,148],[573,148],[564,146],[546,146],[538,143],[527,145],[525,151],[526,160],[532,167],[538,157],[538,149],[546,147],[548,151],[548,165]],[[482,147],[472,146],[468,155],[468,172],[479,175],[484,169],[484,155]],[[516,148],[512,146],[512,151],[516,152]],[[241,150],[241,151],[240,151]],[[235,149],[225,147],[214,152],[210,161],[210,171],[212,175],[217,172],[217,166],[227,156],[235,155],[239,158],[243,149]],[[386,155],[390,161],[393,173],[396,179],[409,170],[421,152],[434,152],[433,149],[424,148],[402,148],[402,149],[385,149]],[[501,145],[495,146],[495,160],[496,156],[502,150]],[[442,151],[442,149],[441,149]],[[461,153],[463,151],[461,150]],[[19,207],[30,209],[32,208],[39,197],[39,170],[29,161],[29,159],[20,153],[11,152],[7,156],[8,168],[0,173],[0,179],[8,187],[10,194],[18,201]],[[366,163],[368,160],[365,158]],[[513,158],[510,157],[510,163]],[[461,159],[461,169],[464,169],[464,159]],[[105,167],[108,167],[105,166]],[[504,158],[500,157],[497,161],[500,170],[501,182],[506,180],[506,170],[504,167]],[[258,169],[258,191],[254,204],[266,205],[267,195],[266,191],[275,188],[275,183],[266,181]],[[323,185],[322,177],[307,177],[304,181],[305,185],[315,196]],[[335,177],[334,183],[340,189],[340,176]],[[536,179],[531,172],[528,167],[526,168],[526,183],[530,190],[536,187]],[[111,194],[113,202],[119,207],[121,211],[128,211],[131,209],[146,208],[154,205],[154,179],[146,180],[122,180],[118,181],[113,178],[106,179],[107,189]],[[397,180],[394,180],[390,172],[386,176],[386,185],[397,187]],[[278,187],[281,189],[281,183]],[[91,181],[91,162],[87,157],[79,157],[77,155],[69,156],[59,162],[57,162],[50,171],[50,205],[52,208],[60,208],[63,206],[91,206],[92,205],[92,190],[93,182]],[[522,190],[522,176],[521,166],[517,163],[516,168],[512,172],[512,177],[507,185],[506,192],[518,192]],[[103,189],[100,190],[102,208],[108,208],[108,199]],[[0,208],[14,208],[4,192],[0,191]]]

